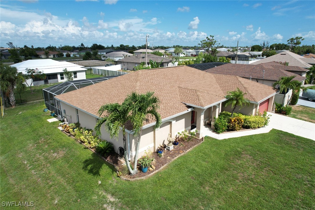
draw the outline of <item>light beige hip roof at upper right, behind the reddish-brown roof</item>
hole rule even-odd
[[[307,59],[307,60],[305,60]],[[297,55],[293,52],[290,51],[283,51],[280,52],[276,55],[272,55],[270,57],[264,58],[262,60],[258,60],[255,62],[250,63],[250,65],[257,65],[257,64],[261,64],[261,63],[269,63],[272,61],[276,61],[276,62],[288,62],[289,66],[298,66],[298,67],[302,67],[302,68],[309,68],[312,67],[311,64],[308,64],[307,62],[309,58],[305,58],[301,55]]]

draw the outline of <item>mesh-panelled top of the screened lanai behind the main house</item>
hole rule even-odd
[[[54,94],[55,96],[60,95],[62,93],[70,92],[72,90],[77,90],[89,85],[93,85],[108,79],[112,79],[115,77],[118,77],[120,75],[114,75],[114,76],[107,76],[107,77],[97,77],[97,78],[91,78],[91,79],[79,79],[74,81],[66,81],[48,88],[43,89],[44,91],[47,91],[51,94]]]

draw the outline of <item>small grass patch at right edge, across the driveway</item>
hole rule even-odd
[[[315,123],[315,108],[294,105],[289,117]]]

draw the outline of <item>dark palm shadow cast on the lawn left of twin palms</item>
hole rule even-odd
[[[92,153],[91,158],[83,161],[82,169],[92,174],[93,176],[100,176],[100,170],[105,164],[108,168],[112,169],[112,172],[115,172],[115,169],[110,164],[106,163],[98,154]]]

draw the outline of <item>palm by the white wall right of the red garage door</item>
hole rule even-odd
[[[284,94],[283,100],[282,100],[282,105],[284,106],[284,99],[285,99],[285,94],[288,92],[288,90],[292,89],[293,91],[295,90],[299,90],[299,89],[304,89],[302,87],[302,83],[298,80],[293,80],[295,78],[295,76],[290,76],[290,77],[281,77],[281,79],[279,79],[278,81],[276,81],[275,83],[273,83],[273,87],[276,87],[276,85],[279,85],[279,90],[280,93]],[[293,93],[292,93],[293,95]],[[292,96],[291,96],[292,98]],[[290,100],[291,100],[290,98]],[[288,101],[288,104],[290,102],[290,100]]]

